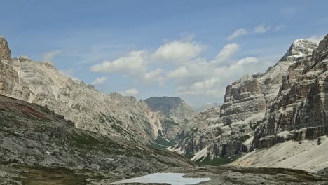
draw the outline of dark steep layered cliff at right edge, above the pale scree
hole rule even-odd
[[[327,128],[328,36],[312,56],[292,64],[278,96],[254,137],[254,148],[270,147],[285,140],[316,139]]]

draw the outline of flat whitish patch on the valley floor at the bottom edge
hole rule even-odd
[[[116,181],[111,184],[121,183],[166,183],[172,185],[198,184],[202,181],[210,181],[210,178],[184,178],[184,173],[154,173],[142,177]]]

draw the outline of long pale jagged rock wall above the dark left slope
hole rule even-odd
[[[4,38],[1,43],[1,53],[8,53]],[[48,107],[83,130],[142,143],[156,139],[160,123],[152,122],[149,115],[155,113],[135,97],[100,93],[93,85],[64,76],[50,62],[1,56],[2,95]]]

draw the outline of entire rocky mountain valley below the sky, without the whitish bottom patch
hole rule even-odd
[[[328,184],[328,35],[226,87],[223,104],[101,93],[0,36],[0,184]],[[326,110],[327,108],[327,110]],[[122,184],[135,184],[123,183]]]

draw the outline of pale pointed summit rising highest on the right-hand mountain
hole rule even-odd
[[[297,60],[300,57],[311,55],[317,49],[317,44],[306,39],[296,39],[280,61]]]

